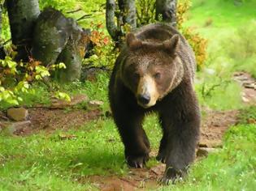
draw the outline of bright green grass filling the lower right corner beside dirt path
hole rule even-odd
[[[256,125],[233,126],[219,153],[195,163],[184,181],[163,190],[254,190],[255,135]]]

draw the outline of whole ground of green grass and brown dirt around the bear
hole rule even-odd
[[[90,108],[87,103],[71,107],[60,103],[56,107],[49,104],[51,95],[40,85],[34,95],[36,98],[24,97],[24,108],[28,111],[24,124],[13,125],[16,122],[7,117],[7,112],[0,111],[0,190],[254,190],[254,57],[249,61],[237,59],[236,63],[227,58],[226,52],[232,48],[233,55],[255,52],[254,49],[243,49],[241,45],[232,45],[228,40],[228,37],[235,36],[240,26],[246,29],[252,26],[254,3],[252,0],[245,6],[234,6],[233,1],[193,0],[186,24],[209,40],[206,68],[215,71],[206,76],[205,83],[209,88],[212,84],[221,86],[206,100],[200,100],[201,89],[196,89],[201,104],[209,107],[202,107],[197,159],[185,180],[167,187],[158,185],[164,165],[154,159],[162,134],[154,115],[146,117],[144,124],[152,146],[152,159],[147,168],[127,167],[124,146],[108,112],[106,90],[109,76],[105,75],[100,76],[99,83],[73,84],[65,89],[75,97],[101,100],[103,105]],[[105,22],[104,18],[101,20]],[[250,44],[254,45],[254,36],[235,37],[241,41],[248,37]],[[223,41],[228,41],[228,46]],[[234,73],[241,70],[243,72]],[[205,75],[203,71],[198,72],[198,79],[203,79],[202,75]],[[232,78],[232,83],[240,84],[241,89],[232,83],[231,88],[223,85],[226,80],[223,78]],[[198,86],[202,87],[202,83]],[[232,102],[236,97],[239,101]]]

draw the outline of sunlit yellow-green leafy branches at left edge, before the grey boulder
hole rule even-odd
[[[29,62],[15,62],[7,56],[0,60],[0,109],[24,103],[24,97],[35,95],[34,81],[43,81],[50,76],[50,71],[65,67],[63,63],[52,66],[41,66],[41,62],[30,59]],[[23,95],[23,96],[21,96]],[[70,100],[69,96],[57,91],[55,96],[59,99]]]

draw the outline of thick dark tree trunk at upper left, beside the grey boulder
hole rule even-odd
[[[12,43],[17,47],[16,60],[28,60],[33,24],[40,14],[38,0],[7,0]]]

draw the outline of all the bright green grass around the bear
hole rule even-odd
[[[44,5],[50,1],[45,1]],[[98,2],[103,2],[99,0]],[[242,6],[234,6],[234,1],[193,0],[189,13],[189,20],[185,23],[194,26],[197,32],[209,40],[209,57],[206,70],[197,74],[196,91],[200,103],[214,109],[243,108],[240,124],[228,130],[224,138],[223,148],[206,159],[194,163],[189,176],[176,185],[159,187],[159,190],[254,190],[256,188],[256,125],[248,124],[249,119],[256,119],[255,107],[245,108],[241,104],[240,87],[232,82],[234,70],[247,70],[255,74],[254,57],[234,62],[232,53],[248,52],[243,45],[236,49],[236,45],[229,42],[236,39],[236,43],[243,41],[244,36],[238,35],[239,26],[251,26],[256,11],[254,0],[244,1]],[[54,4],[65,11],[75,9],[72,3],[57,2]],[[98,10],[99,3],[80,2],[85,10]],[[79,15],[76,15],[79,17]],[[97,19],[95,19],[97,18]],[[95,17],[81,21],[83,26],[89,22],[103,21],[102,13]],[[207,20],[212,23],[205,26]],[[252,32],[253,34],[254,32]],[[252,34],[246,36],[253,36]],[[252,41],[256,38],[249,37]],[[226,41],[224,43],[224,41]],[[256,45],[256,44],[255,44]],[[235,50],[232,50],[232,49]],[[226,49],[232,50],[232,52]],[[252,48],[254,50],[254,48]],[[242,63],[242,65],[241,65]],[[213,70],[214,73],[209,72]],[[255,74],[256,76],[256,74]],[[89,100],[102,100],[102,109],[109,109],[107,100],[108,74],[99,74],[96,82],[71,83],[56,85],[59,91],[76,94],[86,94]],[[203,85],[204,84],[204,85]],[[214,90],[209,91],[215,85]],[[202,87],[204,86],[204,92]],[[29,95],[21,95],[22,104],[50,104],[51,93],[43,84],[33,84]],[[209,92],[208,92],[209,91]],[[0,109],[8,105],[1,104]],[[79,107],[79,106],[78,106]],[[149,135],[153,150],[157,150],[161,138],[161,130],[156,115],[150,115],[145,120],[145,131]],[[98,121],[90,121],[81,125],[79,129],[67,132],[58,130],[53,134],[34,134],[27,137],[14,137],[0,132],[0,190],[96,190],[88,182],[87,177],[93,175],[128,174],[128,167],[124,162],[124,146],[114,122],[102,117]],[[63,140],[59,135],[74,135],[73,139]],[[148,166],[154,166],[155,159],[150,160]]]

